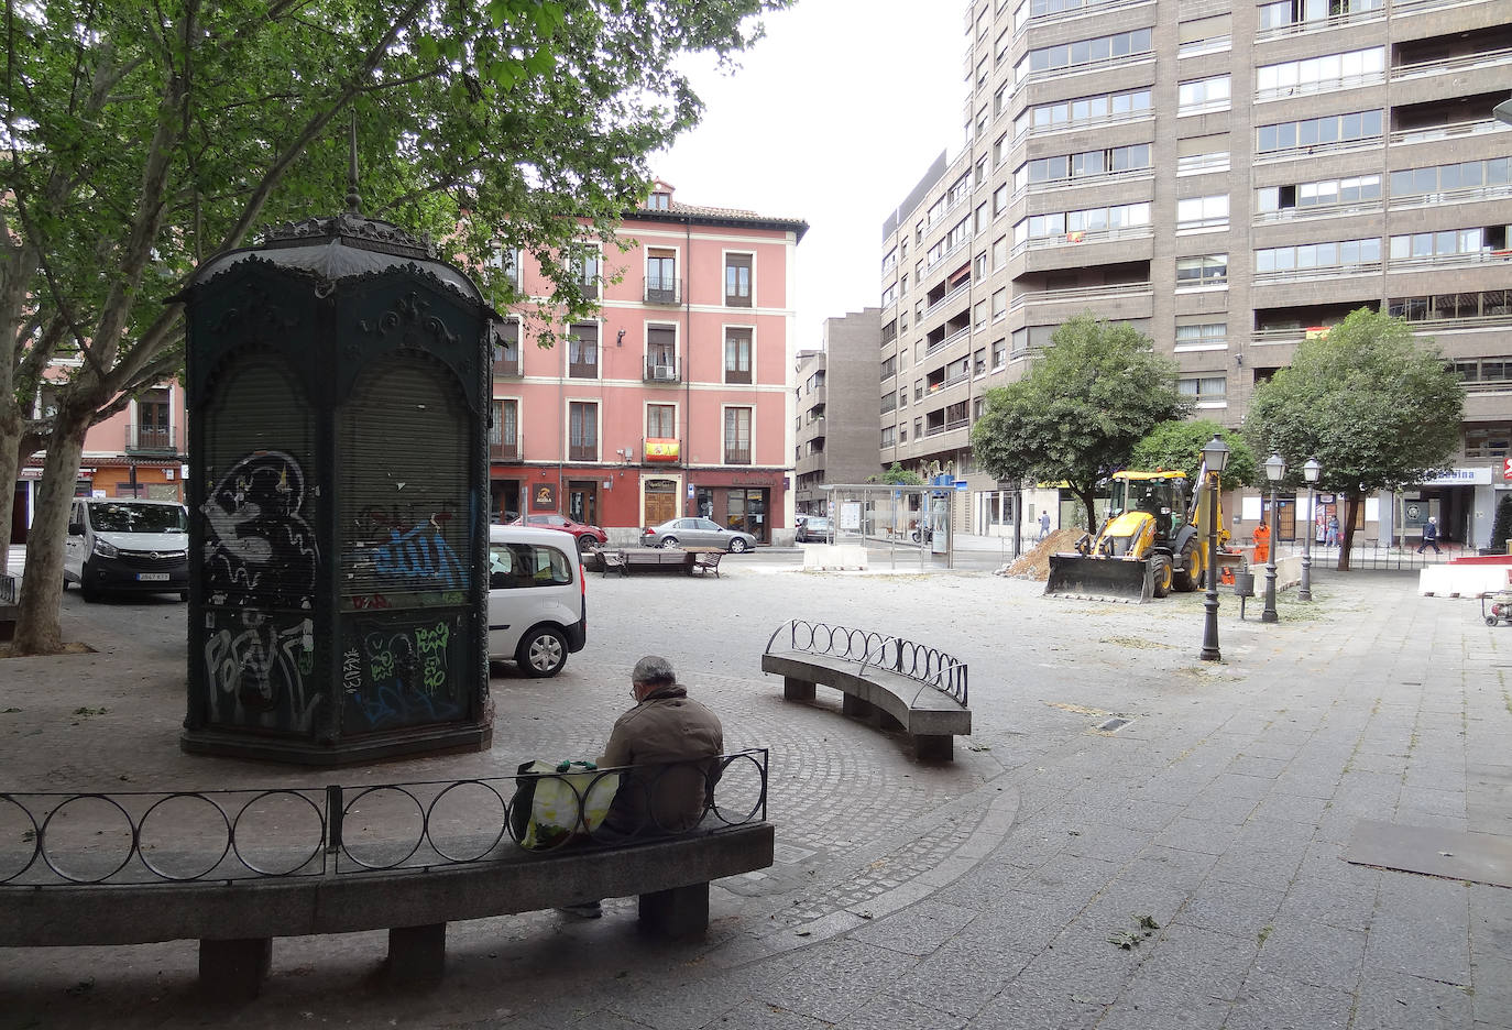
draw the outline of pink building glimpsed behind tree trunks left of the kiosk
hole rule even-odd
[[[60,377],[79,358],[59,358],[48,378]],[[51,401],[51,389],[44,386],[41,404]],[[26,543],[27,526],[36,510],[36,486],[42,478],[44,454],[39,451],[21,461],[21,478],[15,484],[11,511],[11,543]],[[183,501],[184,455],[184,392],[169,381],[144,390],[129,401],[125,410],[91,427],[85,436],[83,463],[74,493],[97,498],[154,498]]]

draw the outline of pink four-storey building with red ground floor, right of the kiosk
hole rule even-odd
[[[494,517],[558,511],[629,543],[641,526],[702,514],[770,543],[789,523],[791,302],[804,231],[795,219],[682,204],[656,183],[618,230],[631,248],[585,269],[605,283],[599,318],[561,327],[550,349],[535,346],[528,322],[505,321],[493,365]],[[529,296],[549,298],[528,257],[513,256],[513,268]]]

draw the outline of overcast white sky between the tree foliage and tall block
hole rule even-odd
[[[703,124],[653,172],[689,204],[800,218],[797,348],[875,306],[881,224],[936,154],[960,150],[960,3],[798,0],[733,77],[689,65]]]

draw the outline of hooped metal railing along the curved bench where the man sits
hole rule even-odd
[[[342,876],[370,870],[423,873],[499,861],[511,852],[594,847],[705,832],[767,818],[767,749],[664,767],[541,771],[367,786],[277,786],[221,791],[0,793],[0,886],[237,882]],[[618,776],[621,793],[656,797],[662,777],[705,791],[702,820],[632,832],[588,830],[585,812],[606,805],[594,788]],[[547,844],[529,836],[526,794],[558,780],[564,824]],[[529,786],[531,791],[522,788]],[[544,793],[544,791],[543,791]],[[652,805],[647,811],[653,811]],[[602,815],[602,812],[600,812]]]

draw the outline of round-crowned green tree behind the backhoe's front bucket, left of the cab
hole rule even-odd
[[[999,479],[1064,481],[1096,525],[1099,484],[1155,425],[1187,413],[1176,365],[1126,322],[1077,315],[1028,377],[987,390],[971,431],[977,463]]]

